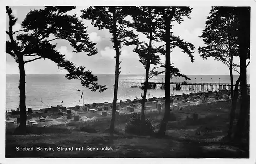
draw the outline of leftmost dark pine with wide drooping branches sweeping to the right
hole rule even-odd
[[[19,90],[20,90],[20,125],[21,133],[26,133],[26,93],[25,93],[25,68],[24,65],[38,59],[50,59],[59,67],[68,71],[65,76],[68,79],[79,79],[84,87],[92,91],[104,91],[105,86],[97,84],[97,77],[92,72],[86,71],[85,67],[77,67],[65,59],[65,54],[55,50],[57,44],[51,41],[56,39],[67,40],[74,48],[73,52],[87,52],[89,56],[97,53],[95,43],[89,40],[86,27],[76,14],[68,15],[67,12],[75,9],[72,6],[45,7],[40,10],[31,10],[22,21],[22,30],[13,31],[17,22],[10,7],[6,6],[6,13],[9,17],[9,28],[6,34],[9,41],[6,41],[6,53],[10,54],[19,64]],[[17,33],[16,37],[15,34]],[[49,39],[54,35],[54,39]],[[24,61],[24,57],[35,57]]]

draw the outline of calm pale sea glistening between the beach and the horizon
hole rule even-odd
[[[27,74],[26,75],[26,107],[33,110],[49,108],[53,105],[63,105],[66,107],[112,102],[114,97],[115,75],[96,75],[100,85],[106,85],[107,90],[104,92],[92,92],[82,87],[79,80],[68,80],[64,74]],[[230,83],[229,75],[188,75],[191,80],[187,82],[214,82],[214,83]],[[234,80],[238,79],[238,75],[234,75]],[[184,78],[174,77],[173,82],[183,82]],[[119,75],[118,84],[118,102],[120,100],[135,99],[137,96],[141,98],[143,90],[139,88],[140,84],[145,81],[144,75]],[[150,81],[164,82],[165,75],[158,75],[150,79]],[[249,83],[249,76],[247,76]],[[132,85],[138,86],[131,88]],[[19,107],[19,74],[6,75],[6,110]],[[173,86],[174,87],[174,86]],[[172,86],[171,86],[172,88]],[[78,91],[80,90],[80,91]],[[83,96],[82,95],[83,92]],[[182,95],[182,93],[198,92],[194,91],[177,91],[172,89],[172,94]],[[152,97],[164,97],[164,90],[160,85],[154,90],[148,90],[147,99]],[[63,103],[61,104],[61,102]]]

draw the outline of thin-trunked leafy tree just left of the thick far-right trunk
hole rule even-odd
[[[236,68],[239,67],[239,65],[233,63],[233,58],[239,56],[239,45],[236,41],[238,39],[238,36],[236,35],[238,31],[238,20],[232,13],[224,14],[220,12],[222,8],[223,7],[212,7],[210,16],[207,17],[206,27],[203,30],[203,34],[200,36],[203,38],[206,46],[198,48],[198,52],[201,53],[200,56],[203,59],[213,57],[215,60],[221,61],[228,66],[231,79],[232,99],[228,130],[228,137],[230,138],[238,98],[238,85],[240,82],[239,77],[234,88],[233,70],[239,73]]]

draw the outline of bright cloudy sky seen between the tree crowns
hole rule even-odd
[[[43,7],[28,7],[28,6],[15,6],[11,7],[13,14],[18,18],[14,31],[21,29],[21,22],[26,17],[26,14],[33,9],[39,9]],[[82,9],[87,8],[86,6],[76,7],[75,10],[69,12],[69,14],[77,13],[77,16],[81,15]],[[181,24],[174,23],[172,32],[176,36],[184,39],[184,41],[191,42],[195,46],[194,50],[194,63],[190,61],[187,54],[181,52],[179,48],[173,49],[171,53],[171,62],[177,67],[181,73],[185,75],[229,75],[229,69],[220,61],[215,61],[213,58],[203,60],[199,56],[197,49],[199,46],[204,46],[202,38],[199,36],[202,34],[205,28],[205,22],[209,12],[210,6],[191,6],[193,8],[190,17],[191,19],[184,18]],[[7,25],[8,27],[8,17]],[[65,58],[76,64],[77,66],[85,66],[86,69],[92,71],[93,74],[114,74],[115,73],[115,51],[113,49],[113,43],[110,41],[111,34],[108,30],[98,30],[98,28],[91,25],[90,20],[83,20],[87,26],[87,32],[90,36],[90,40],[96,43],[98,53],[93,56],[87,56],[86,53],[73,53],[73,48],[67,41],[55,40],[52,43],[57,43],[56,49],[60,53],[65,54]],[[8,36],[6,35],[8,39]],[[139,33],[141,41],[147,41],[146,37]],[[133,52],[134,46],[124,46],[121,49],[120,60],[122,61],[121,74],[144,74],[145,69],[139,62],[138,54]],[[165,56],[160,55],[162,63],[165,63]],[[26,59],[25,59],[26,60]],[[239,64],[239,59],[234,59],[234,62]],[[151,66],[154,67],[154,66]],[[26,74],[65,74],[65,70],[60,70],[57,64],[48,59],[39,59],[30,63],[25,64]],[[248,67],[248,74],[250,67]],[[6,54],[6,73],[7,74],[18,74],[18,64],[14,58],[9,54]]]

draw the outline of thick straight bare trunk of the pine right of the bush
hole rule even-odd
[[[165,110],[158,131],[158,134],[161,136],[165,135],[166,125],[170,115],[170,20],[168,18],[165,19]]]

